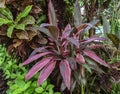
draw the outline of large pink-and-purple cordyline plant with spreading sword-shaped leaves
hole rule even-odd
[[[96,68],[98,68],[97,63],[109,68],[109,65],[90,49],[90,47],[97,46],[94,42],[102,42],[104,38],[84,38],[85,31],[88,31],[87,29],[90,28],[89,24],[81,24],[73,28],[68,24],[61,34],[55,23],[55,14],[53,14],[54,9],[50,0],[50,24],[41,24],[39,28],[40,32],[46,35],[48,44],[44,47],[36,48],[22,65],[38,60],[25,78],[29,80],[38,71],[41,71],[38,78],[38,85],[40,85],[48,78],[55,67],[57,67],[56,64],[58,64],[65,86],[70,90],[72,73],[80,70],[81,75],[84,77],[84,68],[80,69],[80,67],[85,67],[84,65],[89,66],[90,63],[88,61],[93,61],[93,66]],[[90,46],[91,44],[92,46]],[[90,70],[89,67],[85,68]]]

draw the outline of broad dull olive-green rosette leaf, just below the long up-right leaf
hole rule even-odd
[[[25,17],[25,18],[22,19],[21,24],[24,24],[25,26],[26,25],[30,25],[30,24],[31,25],[35,24],[35,19],[34,19],[33,16],[28,15],[27,17]]]

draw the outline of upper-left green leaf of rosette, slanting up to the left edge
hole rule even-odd
[[[8,8],[0,8],[0,13],[4,15],[7,19],[13,20],[12,13]]]

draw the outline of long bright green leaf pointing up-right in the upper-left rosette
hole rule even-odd
[[[29,14],[29,12],[31,11],[31,9],[32,9],[32,5],[27,6],[25,8],[25,10],[17,16],[16,22],[18,23],[21,20],[21,18],[26,17]]]

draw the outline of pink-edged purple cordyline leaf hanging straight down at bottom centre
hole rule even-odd
[[[70,90],[70,79],[71,79],[71,69],[69,62],[67,60],[62,60],[60,62],[60,73],[62,75],[63,81],[66,87]]]

